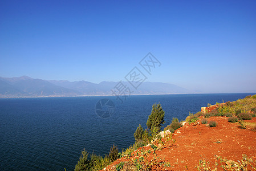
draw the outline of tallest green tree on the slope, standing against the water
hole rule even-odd
[[[161,107],[161,104],[153,104],[152,105],[152,111],[151,115],[148,116],[148,121],[147,121],[147,127],[148,129],[152,128],[158,128],[159,130],[161,129],[162,125],[164,124],[164,110]]]

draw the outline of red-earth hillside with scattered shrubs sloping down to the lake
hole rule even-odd
[[[255,112],[256,95],[202,108],[174,133],[135,151],[131,146],[103,170],[255,170]],[[173,132],[172,124],[165,130]]]

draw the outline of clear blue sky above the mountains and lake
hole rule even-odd
[[[0,76],[256,91],[256,1],[0,1]]]

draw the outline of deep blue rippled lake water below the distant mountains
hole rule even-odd
[[[133,144],[154,103],[162,105],[166,126],[208,103],[247,95],[253,93],[129,96],[123,104],[115,96],[0,99],[0,170],[74,170],[84,148],[103,155],[113,143],[119,150]],[[105,98],[115,112],[101,118],[95,105]]]

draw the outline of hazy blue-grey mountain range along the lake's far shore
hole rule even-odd
[[[67,80],[32,79],[28,76],[18,78],[0,77],[0,97],[46,97],[46,96],[101,96],[113,95],[111,89],[118,82],[101,82],[99,84]],[[131,90],[131,95],[156,95],[172,93],[191,93],[174,84],[144,82],[135,89],[129,82],[122,82]],[[128,92],[126,93],[126,95]]]

